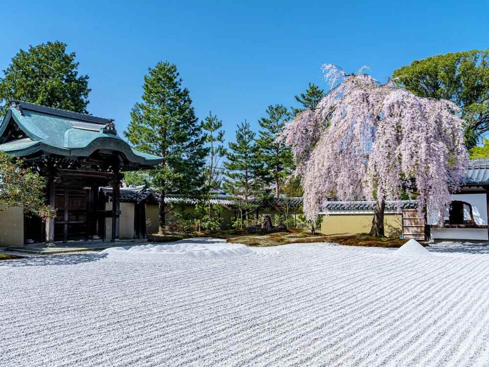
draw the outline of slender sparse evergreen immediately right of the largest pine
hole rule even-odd
[[[221,172],[219,162],[226,154],[224,148],[224,131],[221,130],[222,121],[217,118],[217,115],[209,115],[202,121],[202,129],[205,132],[205,141],[209,146],[208,165],[205,170],[206,187],[204,200],[208,208],[209,218],[212,218],[212,206],[210,199],[213,197],[213,192],[221,187]]]

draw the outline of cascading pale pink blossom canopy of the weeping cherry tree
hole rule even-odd
[[[458,107],[331,64],[323,70],[333,88],[280,137],[297,162],[307,218],[315,220],[332,197],[399,200],[415,194],[420,218],[426,207],[442,223],[467,160]]]

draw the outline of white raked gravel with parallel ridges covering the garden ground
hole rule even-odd
[[[170,246],[1,261],[0,366],[489,366],[489,247]]]

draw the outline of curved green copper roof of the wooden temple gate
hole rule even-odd
[[[14,102],[0,125],[3,136],[11,121],[25,134],[22,138],[0,144],[0,150],[18,157],[42,151],[43,154],[88,157],[98,149],[124,154],[128,161],[154,165],[162,158],[139,152],[120,138],[112,120],[39,106]]]

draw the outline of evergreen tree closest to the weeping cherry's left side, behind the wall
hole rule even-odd
[[[277,141],[278,134],[282,132],[285,122],[290,117],[285,106],[270,105],[267,108],[267,117],[262,117],[258,121],[262,128],[259,131],[260,138],[257,139],[258,157],[267,170],[267,182],[273,182],[275,185],[275,196],[280,195],[281,184],[294,165],[290,148]]]

